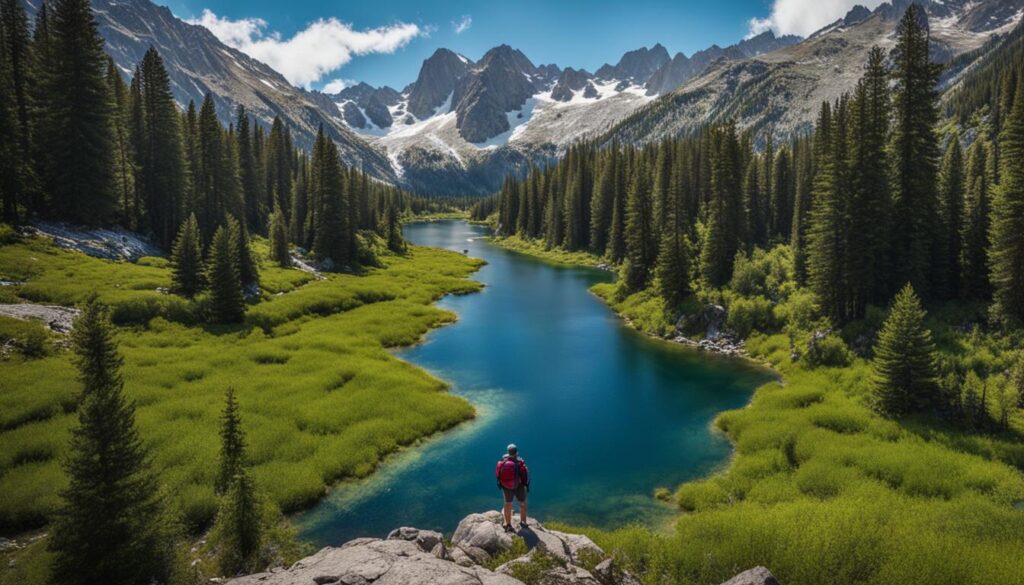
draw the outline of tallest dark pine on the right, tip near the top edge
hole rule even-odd
[[[896,80],[892,132],[895,274],[890,282],[909,281],[926,298],[937,224],[938,92],[941,67],[929,56],[928,16],[910,4],[896,29],[893,76]]]

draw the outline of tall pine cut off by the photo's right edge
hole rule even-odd
[[[1024,76],[999,134],[999,189],[992,204],[988,265],[992,312],[1009,326],[1024,323]]]

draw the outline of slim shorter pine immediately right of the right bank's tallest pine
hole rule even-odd
[[[959,297],[964,184],[964,150],[961,148],[959,135],[954,133],[949,137],[939,170],[939,198],[942,202],[942,225],[945,233],[942,266],[945,268],[945,296],[948,298]]]

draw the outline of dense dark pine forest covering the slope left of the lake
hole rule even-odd
[[[243,237],[283,235],[341,267],[358,263],[360,232],[396,246],[401,215],[452,209],[343,167],[323,132],[305,153],[280,119],[264,128],[240,106],[224,128],[209,95],[182,110],[155,49],[126,83],[103,53],[88,1],[44,4],[30,28],[22,4],[4,0],[2,20],[7,222],[118,224],[169,249],[195,214],[206,251],[231,217]]]

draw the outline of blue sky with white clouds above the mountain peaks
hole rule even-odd
[[[479,58],[507,43],[536,65],[593,72],[627,50],[660,42],[691,54],[752,32],[807,34],[850,0],[157,0],[266,61],[292,83],[366,81],[401,89],[439,47]],[[868,5],[878,1],[868,1]]]

